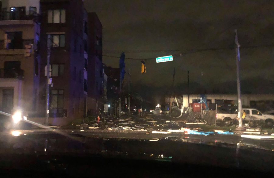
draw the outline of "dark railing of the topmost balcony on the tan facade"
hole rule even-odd
[[[32,20],[35,16],[35,11],[4,11],[0,13],[0,20]]]

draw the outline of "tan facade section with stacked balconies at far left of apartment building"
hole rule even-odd
[[[0,110],[35,115],[39,100],[39,0],[2,0]]]

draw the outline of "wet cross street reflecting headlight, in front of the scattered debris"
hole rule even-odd
[[[210,135],[190,135],[186,132],[163,132],[163,133],[153,133],[152,131],[132,131],[132,130],[59,130],[49,131],[47,129],[37,129],[37,130],[14,130],[5,131],[1,135],[5,137],[16,137],[16,136],[32,136],[32,135],[44,135],[51,133],[63,133],[67,135],[70,139],[81,140],[82,138],[116,138],[116,139],[145,139],[151,141],[157,141],[163,138],[172,138],[173,140],[181,140],[182,142],[191,143],[203,143],[203,144],[229,144],[231,146],[236,146],[237,144],[242,146],[248,146],[252,148],[260,148],[266,150],[273,150],[274,139],[250,139],[242,138],[241,133],[233,135],[223,135],[223,134],[210,134]]]

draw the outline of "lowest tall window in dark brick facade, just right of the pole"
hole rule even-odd
[[[50,103],[51,117],[61,117],[64,112],[64,90],[51,90]]]

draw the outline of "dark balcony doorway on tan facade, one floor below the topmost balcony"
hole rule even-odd
[[[23,49],[22,32],[6,32],[5,48],[6,49]]]

